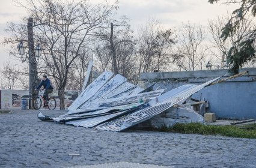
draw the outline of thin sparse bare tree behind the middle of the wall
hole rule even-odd
[[[174,51],[174,62],[185,71],[200,68],[208,48],[203,47],[206,32],[201,25],[187,23],[177,33],[178,43]]]

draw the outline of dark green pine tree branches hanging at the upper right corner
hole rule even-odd
[[[211,4],[220,0],[209,0]],[[240,7],[233,11],[232,17],[228,23],[222,28],[221,37],[225,41],[228,37],[232,37],[237,29],[243,24],[246,15],[256,16],[256,0],[225,0],[227,4],[240,4]],[[253,23],[252,23],[253,24]],[[256,62],[256,27],[254,26],[246,35],[240,37],[233,43],[228,52],[228,64],[231,65],[230,72],[237,74],[239,68],[246,62]]]

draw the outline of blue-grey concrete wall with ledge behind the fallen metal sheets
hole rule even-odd
[[[208,86],[192,95],[192,98],[209,101],[207,111],[216,113],[217,118],[256,118],[256,68],[244,68],[240,72],[247,70],[249,73],[245,76]],[[200,85],[224,75],[230,76],[227,70],[206,70],[142,73],[140,78],[145,81],[145,86],[156,83],[154,89],[160,86],[169,91],[187,83]]]

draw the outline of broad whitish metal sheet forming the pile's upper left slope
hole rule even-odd
[[[78,109],[82,103],[91,98],[97,91],[99,91],[100,88],[102,88],[103,85],[105,85],[106,82],[108,82],[109,79],[111,79],[113,74],[114,73],[112,72],[105,71],[99,77],[97,77],[97,79],[88,85],[87,88],[85,88],[84,91],[82,91],[82,93],[78,96],[78,98],[73,101],[71,106],[68,108],[68,110],[70,110],[68,113],[71,113],[72,110]]]

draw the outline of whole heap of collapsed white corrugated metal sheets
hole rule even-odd
[[[105,71],[97,77],[81,92],[65,115],[50,117],[38,113],[38,118],[98,130],[122,131],[174,105],[183,104],[192,94],[220,78],[165,92],[165,89],[147,91],[127,82],[120,74],[113,76],[114,73]]]

